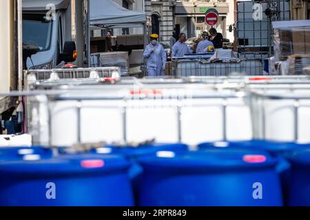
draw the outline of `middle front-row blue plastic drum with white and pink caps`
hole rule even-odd
[[[139,206],[282,206],[277,161],[261,151],[166,151],[139,162]]]

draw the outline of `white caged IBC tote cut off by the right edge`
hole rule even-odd
[[[295,86],[296,87],[296,86]],[[254,137],[259,139],[310,142],[310,86],[266,88],[250,99]]]

